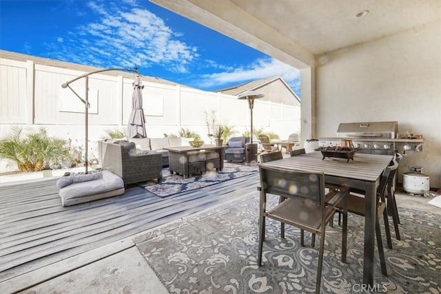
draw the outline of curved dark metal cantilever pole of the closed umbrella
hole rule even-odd
[[[63,89],[65,88],[69,88],[72,92],[74,92],[75,96],[77,96],[82,103],[84,103],[84,113],[85,113],[85,139],[84,139],[84,149],[85,149],[85,154],[84,154],[84,160],[85,160],[85,173],[88,174],[88,165],[89,165],[89,158],[88,158],[88,140],[89,140],[89,136],[88,136],[88,129],[89,129],[89,107],[90,107],[90,103],[89,103],[89,76],[92,74],[97,74],[99,72],[110,72],[112,70],[119,70],[121,72],[135,72],[136,74],[139,74],[139,70],[138,67],[134,67],[133,70],[129,70],[129,69],[125,69],[125,68],[110,68],[107,70],[95,70],[94,72],[89,72],[87,74],[83,74],[81,76],[77,76],[76,78],[73,78],[70,81],[67,81],[65,83],[63,83],[63,85],[61,85],[61,87]],[[72,87],[70,87],[70,83],[73,83],[76,80],[79,80],[80,78],[85,78],[85,98],[81,98],[81,96],[79,96],[79,94],[77,94]]]

